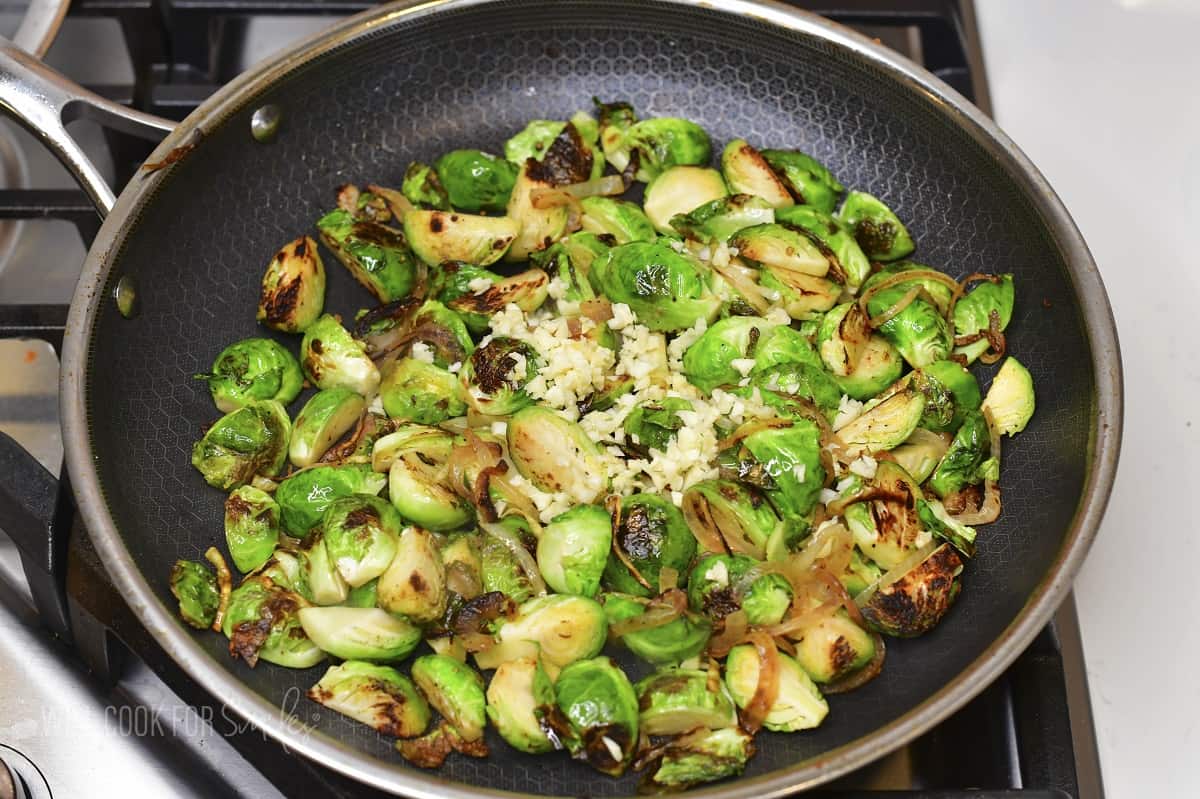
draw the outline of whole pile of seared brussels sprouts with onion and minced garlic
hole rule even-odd
[[[509,133],[342,186],[270,256],[272,337],[197,376],[245,577],[212,546],[170,591],[247,667],[341,661],[310,698],[419,768],[490,723],[643,792],[737,776],[887,638],[962,624],[1034,413],[1013,276],[907,260],[911,198],[793,142],[619,100]]]

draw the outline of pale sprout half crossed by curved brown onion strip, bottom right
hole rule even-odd
[[[767,711],[762,726],[774,732],[812,729],[824,721],[829,705],[820,689],[794,659],[779,657],[779,695]],[[725,659],[725,685],[739,708],[750,704],[758,686],[758,653],[750,644],[730,650]]]

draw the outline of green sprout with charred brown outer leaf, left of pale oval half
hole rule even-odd
[[[229,654],[253,667],[259,660],[287,668],[310,668],[325,659],[304,627],[298,612],[307,607],[299,594],[251,577],[233,589],[222,630]]]

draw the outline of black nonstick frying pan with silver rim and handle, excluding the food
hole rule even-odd
[[[319,667],[250,669],[229,657],[223,637],[185,627],[167,575],[176,558],[198,558],[222,537],[224,499],[188,463],[217,415],[191,376],[230,341],[264,335],[254,304],[265,263],[311,232],[336,186],[396,185],[410,160],[496,149],[527,120],[565,119],[593,96],[628,100],[643,116],[688,116],[719,144],[744,137],[802,149],[896,209],[919,260],[959,276],[1013,272],[1009,349],[1038,391],[1028,429],[1004,441],[1004,513],[980,530],[943,623],[890,641],[880,678],[833,697],[822,727],[763,734],[745,776],[696,795],[808,788],[928,729],[1046,624],[1096,533],[1121,426],[1120,355],[1096,265],[1004,134],[947,85],[848,30],[746,0],[383,6],[223,88],[150,158],[169,166],[144,169],[115,205],[61,120],[89,115],[142,132],[169,124],[64,88],[11,50],[2,66],[5,107],[25,115],[102,211],[112,209],[71,307],[61,385],[67,465],[97,551],[192,679],[292,750],[364,783],[420,799],[607,797],[632,793],[636,777],[613,781],[498,740],[488,759],[456,756],[419,771],[373,731],[296,701]],[[32,89],[20,91],[18,74]],[[268,106],[280,124],[260,142],[252,120]],[[136,289],[132,318],[113,300],[122,282]],[[366,305],[331,266],[328,307],[349,314]]]

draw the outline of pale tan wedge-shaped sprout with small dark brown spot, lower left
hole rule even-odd
[[[446,608],[445,582],[445,567],[433,535],[419,527],[407,527],[400,534],[396,557],[379,577],[379,607],[418,624],[437,621]]]

